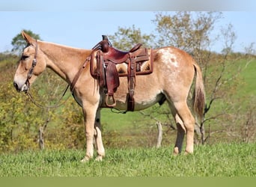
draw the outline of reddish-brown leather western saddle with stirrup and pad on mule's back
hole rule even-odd
[[[134,111],[135,76],[153,72],[151,49],[136,44],[128,52],[112,47],[108,37],[97,43],[91,53],[91,76],[97,79],[100,87],[106,91],[106,106],[116,105],[114,93],[120,85],[119,77],[128,79],[127,111]]]

